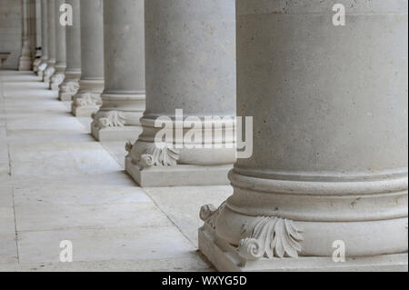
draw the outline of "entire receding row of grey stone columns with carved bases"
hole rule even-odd
[[[200,210],[217,269],[324,267],[334,245],[407,263],[407,1],[32,2],[20,69],[123,141],[138,185],[233,185]],[[236,115],[253,118],[244,158]]]

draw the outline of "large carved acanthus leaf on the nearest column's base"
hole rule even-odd
[[[303,231],[294,222],[279,217],[260,217],[253,225],[244,225],[238,253],[244,259],[298,257]]]

